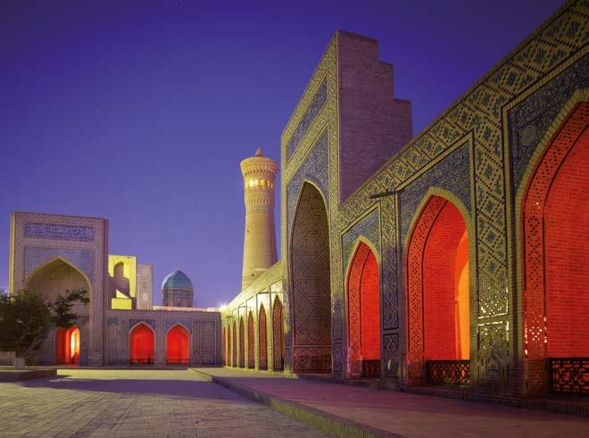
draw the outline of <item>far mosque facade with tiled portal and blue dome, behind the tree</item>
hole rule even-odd
[[[39,364],[220,363],[220,312],[194,307],[192,282],[180,270],[164,279],[162,305],[153,305],[152,266],[109,254],[106,219],[13,213],[9,292],[27,288],[47,299],[82,288],[90,298],[74,306],[74,326],[47,337]]]

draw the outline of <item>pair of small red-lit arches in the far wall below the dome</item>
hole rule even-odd
[[[190,364],[190,332],[185,326],[172,326],[166,334],[166,363]],[[129,359],[131,364],[153,364],[155,360],[155,333],[145,323],[134,326],[129,333]]]

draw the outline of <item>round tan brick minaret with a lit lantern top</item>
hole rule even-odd
[[[245,238],[242,290],[276,263],[274,230],[274,179],[278,163],[265,157],[261,147],[255,156],[241,161],[245,187]]]

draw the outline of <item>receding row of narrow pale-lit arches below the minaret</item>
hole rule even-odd
[[[247,331],[245,329],[247,326]],[[237,331],[238,330],[238,331]],[[257,330],[258,337],[258,368],[267,370],[269,367],[268,351],[272,352],[272,364],[274,371],[284,369],[284,310],[282,302],[277,297],[274,298],[272,305],[272,336],[271,344],[268,340],[268,318],[266,308],[261,304],[258,310],[257,327],[256,318],[253,316],[253,310],[244,317],[239,318],[237,322],[223,327],[223,365],[228,367],[255,368],[255,334]],[[239,334],[237,336],[237,334]],[[247,339],[247,344],[245,340]],[[237,340],[239,344],[237,345]],[[246,355],[247,354],[247,360]]]

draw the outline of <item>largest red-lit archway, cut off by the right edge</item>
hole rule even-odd
[[[589,103],[581,103],[535,165],[522,202],[523,336],[527,391],[587,393],[589,362]],[[585,365],[583,365],[585,364]],[[560,373],[559,369],[566,369]],[[585,374],[586,376],[586,374]]]

